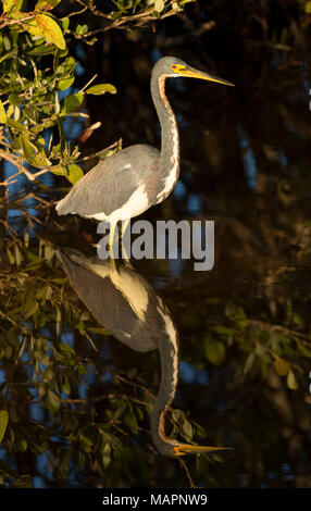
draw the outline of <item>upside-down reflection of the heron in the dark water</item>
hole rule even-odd
[[[116,270],[76,250],[59,250],[58,258],[76,294],[101,325],[136,351],[160,351],[161,384],[151,414],[151,435],[159,452],[175,458],[226,449],[183,444],[165,436],[165,413],[178,381],[178,338],[172,316],[153,288],[124,265]]]

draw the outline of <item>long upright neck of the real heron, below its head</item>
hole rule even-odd
[[[170,194],[179,175],[179,135],[175,114],[165,96],[166,75],[151,77],[151,96],[161,125],[161,177],[163,198]],[[163,199],[162,199],[163,200]]]

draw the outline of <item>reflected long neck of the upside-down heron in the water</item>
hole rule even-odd
[[[165,413],[174,399],[178,382],[178,339],[171,315],[161,299],[157,309],[163,319],[163,329],[158,346],[161,359],[161,384],[151,414],[151,435],[157,449],[167,456],[171,446],[165,435]]]

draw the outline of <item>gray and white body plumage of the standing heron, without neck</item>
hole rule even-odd
[[[157,149],[144,145],[114,153],[76,183],[58,203],[58,213],[79,214],[112,223],[144,213],[160,191],[159,158]],[[132,214],[128,216],[129,210]]]

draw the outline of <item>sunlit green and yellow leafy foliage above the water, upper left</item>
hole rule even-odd
[[[83,108],[85,96],[115,94],[116,89],[104,83],[92,86],[88,83],[83,88],[75,85],[77,61],[74,43],[76,40],[80,43],[96,41],[86,24],[74,23],[79,11],[72,7],[66,15],[58,17],[57,12],[67,9],[67,2],[60,0],[38,0],[32,11],[23,11],[23,0],[2,3],[0,159],[13,163],[30,180],[45,172],[52,172],[64,175],[74,184],[83,175],[75,163],[79,150],[66,140],[64,123],[69,117],[88,117]],[[92,1],[78,3],[83,5],[82,11],[89,10],[95,20],[108,23],[102,28],[104,30],[115,23],[117,26],[125,24],[128,17],[133,22],[138,16],[140,23],[154,20],[154,16],[174,14],[186,2],[119,1],[110,14],[98,11]],[[29,172],[28,165],[37,172]],[[11,176],[4,185],[14,177]]]

